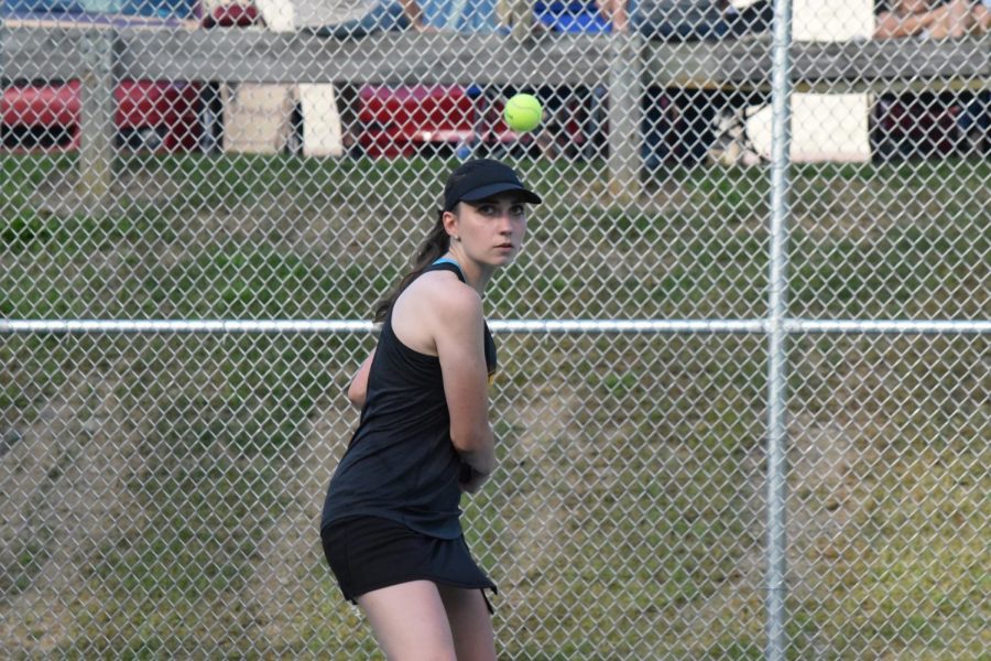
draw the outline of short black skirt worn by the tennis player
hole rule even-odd
[[[374,589],[424,579],[497,592],[471,560],[464,535],[444,540],[389,519],[358,517],[329,523],[320,531],[320,541],[330,571],[351,603]]]

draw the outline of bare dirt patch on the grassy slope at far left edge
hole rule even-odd
[[[75,371],[0,458],[0,655],[45,652],[73,637],[95,556],[143,525],[127,487],[139,415],[117,380]]]

